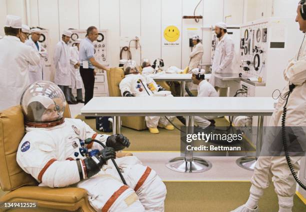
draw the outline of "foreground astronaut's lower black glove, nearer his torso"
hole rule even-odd
[[[107,160],[115,158],[116,152],[111,147],[106,147],[94,156],[85,158],[83,161],[86,166],[87,178],[97,174],[102,166],[107,163]]]

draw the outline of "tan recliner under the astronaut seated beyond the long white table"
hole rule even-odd
[[[111,68],[107,71],[107,84],[109,96],[121,96],[119,89],[119,83],[124,78],[124,72],[121,68]],[[146,129],[145,120],[143,116],[122,116],[122,126],[128,127],[135,130]]]

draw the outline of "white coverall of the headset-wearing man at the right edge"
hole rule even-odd
[[[298,55],[289,61],[283,72],[284,79],[288,83],[281,92],[282,98],[279,97],[268,126],[281,126],[283,106],[286,102],[284,97],[288,93],[289,83],[294,84],[295,88],[290,94],[286,106],[285,126],[306,126],[306,41],[302,44],[298,60],[297,57]],[[290,158],[294,171],[297,173],[300,157]],[[257,188],[264,189],[269,186],[270,177],[274,178],[273,183],[278,198],[279,196],[292,197],[295,194],[296,182],[288,168],[285,157],[258,157],[251,179],[252,184]],[[250,192],[254,189],[255,187],[252,186]]]

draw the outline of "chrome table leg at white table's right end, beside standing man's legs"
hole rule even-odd
[[[263,130],[263,116],[258,116],[257,139],[256,139],[256,155],[259,155],[262,146],[262,130]],[[255,168],[257,157],[244,156],[236,160],[236,164],[241,168],[253,171]]]

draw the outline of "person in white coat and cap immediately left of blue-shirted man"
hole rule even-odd
[[[71,101],[75,101],[73,94],[72,94],[72,89],[76,89],[76,102],[84,103],[83,95],[82,95],[83,81],[79,74],[78,50],[79,50],[80,41],[81,39],[79,38],[76,39],[76,41],[74,42],[75,46],[69,48],[70,60],[72,61],[72,64],[70,63],[71,85],[69,86],[69,92],[70,92]]]

